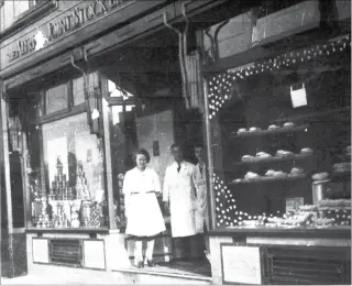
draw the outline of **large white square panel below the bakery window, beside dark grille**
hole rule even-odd
[[[224,283],[262,284],[260,248],[222,245],[221,250]]]

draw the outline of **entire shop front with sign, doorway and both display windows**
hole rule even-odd
[[[176,142],[207,147],[212,226],[211,270],[175,283],[351,282],[350,3],[274,2],[53,1],[7,35],[8,276],[25,257],[135,274],[123,176],[144,147],[163,184]],[[185,253],[162,210],[167,265]]]

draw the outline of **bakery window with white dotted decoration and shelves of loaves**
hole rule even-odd
[[[350,36],[207,77],[216,224],[351,224]]]

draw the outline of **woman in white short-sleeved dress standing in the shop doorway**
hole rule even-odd
[[[161,194],[161,184],[154,169],[147,167],[150,154],[142,148],[136,152],[136,166],[127,172],[123,182],[125,200],[125,217],[128,224],[125,233],[135,238],[135,257],[138,267],[144,267],[143,241],[146,241],[145,256],[148,266],[154,266],[153,251],[155,235],[165,231],[164,218],[156,199]]]

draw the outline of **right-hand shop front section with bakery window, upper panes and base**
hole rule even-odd
[[[350,2],[233,7],[198,36],[213,283],[350,284]]]

